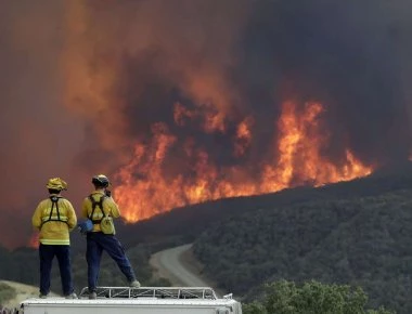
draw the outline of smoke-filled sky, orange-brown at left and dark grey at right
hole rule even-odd
[[[151,195],[160,168],[181,184],[205,163],[210,180],[259,180],[285,102],[322,104],[336,165],[347,149],[373,167],[407,159],[411,3],[0,0],[0,243],[27,243],[51,176],[77,212],[100,172]]]

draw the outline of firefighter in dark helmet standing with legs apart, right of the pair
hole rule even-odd
[[[120,215],[119,208],[107,189],[111,183],[104,174],[94,175],[91,183],[94,185],[94,191],[85,198],[81,213],[85,219],[89,219],[93,223],[92,230],[87,233],[86,259],[88,263],[89,298],[95,299],[103,251],[106,251],[117,263],[130,287],[140,287],[140,283],[136,279],[133,269],[125,254],[120,241],[115,237],[113,222],[112,227],[103,225],[104,222],[110,223],[113,218]]]

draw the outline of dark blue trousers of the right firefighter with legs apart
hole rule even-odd
[[[119,240],[114,235],[106,235],[101,232],[90,232],[87,234],[86,259],[88,263],[88,285],[89,291],[94,291],[100,270],[100,261],[103,251],[116,262],[121,273],[130,283],[136,279],[133,269]]]

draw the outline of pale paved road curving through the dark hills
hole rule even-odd
[[[160,277],[169,279],[173,286],[208,287],[207,283],[182,264],[181,256],[191,247],[190,244],[159,251],[152,256],[151,264],[158,270]]]

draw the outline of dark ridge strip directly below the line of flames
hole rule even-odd
[[[366,178],[322,187],[296,187],[278,193],[226,198],[181,207],[150,220],[119,225],[118,231],[129,247],[171,238],[179,245],[196,239],[215,223],[244,212],[317,200],[378,196],[410,186],[412,186],[412,162],[405,162],[396,168],[381,169]],[[189,225],[190,227],[182,228]]]

